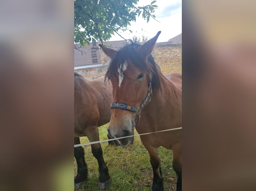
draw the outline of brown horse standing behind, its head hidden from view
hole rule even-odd
[[[110,121],[110,104],[113,102],[112,85],[104,83],[104,77],[88,81],[78,73],[74,73],[75,89],[75,144],[80,144],[81,136],[87,136],[89,141],[99,140],[98,126]],[[93,156],[99,164],[99,189],[106,189],[110,184],[108,168],[102,156],[101,144],[91,144]],[[88,175],[87,164],[82,146],[75,147],[77,161],[77,176],[75,187],[79,187]]]

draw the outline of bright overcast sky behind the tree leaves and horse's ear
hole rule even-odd
[[[137,6],[148,5],[152,1],[153,0],[139,0]],[[158,31],[162,31],[158,37],[158,43],[167,42],[170,38],[179,35],[182,32],[181,0],[157,0],[155,5],[157,5],[158,8],[155,9],[154,15],[156,16],[156,20],[159,22],[155,21],[153,18],[150,18],[149,22],[147,23],[147,21],[142,19],[140,16],[140,18],[136,18],[136,22],[131,22],[131,26],[129,27],[129,30],[132,30],[133,34],[131,34],[128,30],[125,33],[121,33],[121,35],[125,39],[131,39],[132,36],[136,34],[136,31],[137,36],[141,36],[141,29],[143,29],[144,36],[152,38]],[[110,39],[110,41],[118,40],[124,39],[119,37],[117,34],[112,36]]]

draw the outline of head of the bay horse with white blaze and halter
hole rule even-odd
[[[106,73],[113,86],[111,119],[108,133],[111,138],[134,135],[134,127],[140,120],[141,109],[150,101],[152,88],[158,84],[157,70],[151,51],[161,31],[143,45],[127,44],[119,51],[100,45],[112,60]],[[151,82],[153,83],[151,87]],[[127,146],[132,137],[115,141]]]

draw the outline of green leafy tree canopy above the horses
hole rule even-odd
[[[139,0],[75,0],[75,43],[86,46],[91,41],[108,41],[114,33],[128,30],[136,16],[149,21],[155,19],[155,0],[143,7],[136,7]],[[131,32],[131,31],[130,31]],[[120,35],[121,36],[121,35]]]

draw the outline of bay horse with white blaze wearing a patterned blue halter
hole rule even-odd
[[[114,102],[107,127],[112,138],[133,135],[135,124],[139,134],[182,126],[182,76],[179,73],[163,75],[150,54],[160,33],[143,45],[127,44],[119,51],[100,45],[111,58],[105,81],[110,80],[113,86]],[[157,153],[157,148],[163,146],[173,152],[172,165],[177,174],[176,190],[181,191],[181,129],[141,135],[140,138],[150,155],[153,168],[152,190],[163,190]],[[130,141],[130,137],[122,138],[115,140],[115,144],[126,146]]]

